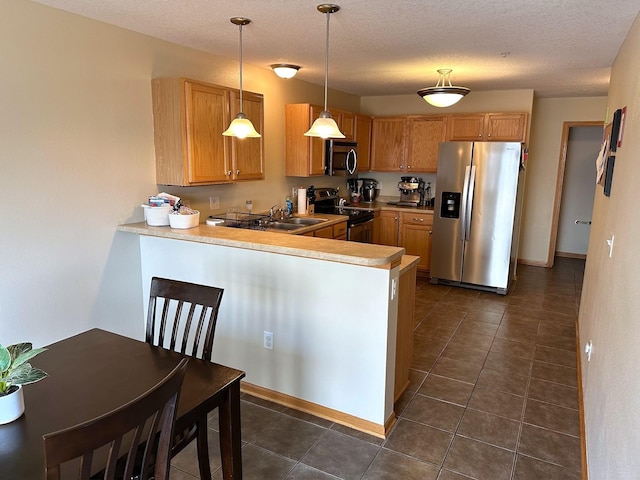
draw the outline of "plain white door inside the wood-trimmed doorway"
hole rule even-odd
[[[587,254],[596,189],[596,157],[601,143],[601,126],[575,126],[569,129],[558,219],[558,255]]]

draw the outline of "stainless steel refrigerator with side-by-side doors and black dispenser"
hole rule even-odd
[[[440,144],[432,283],[507,293],[516,274],[523,150],[520,143]]]

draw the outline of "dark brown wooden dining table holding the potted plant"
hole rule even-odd
[[[25,413],[0,425],[0,478],[44,478],[42,436],[109,412],[146,392],[183,358],[100,329],[49,345],[31,363],[49,376],[25,385]],[[223,478],[242,478],[241,370],[190,358],[176,418],[185,428],[203,412],[219,409]]]

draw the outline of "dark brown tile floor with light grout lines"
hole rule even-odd
[[[243,395],[245,480],[580,479],[583,273],[584,261],[566,258],[552,269],[519,266],[507,296],[418,279],[411,385],[389,437]],[[210,428],[221,479],[215,414]],[[171,479],[197,472],[190,445]]]

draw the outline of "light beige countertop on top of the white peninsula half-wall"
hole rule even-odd
[[[315,218],[326,218],[322,227],[343,222],[343,215],[318,214]],[[209,226],[204,223],[188,229],[171,227],[151,227],[146,222],[128,223],[118,226],[122,232],[136,233],[152,237],[170,238],[188,242],[208,243],[211,245],[244,248],[282,255],[315,258],[333,262],[361,265],[368,267],[391,268],[400,263],[404,248],[374,245],[344,240],[331,240],[306,235],[298,235],[305,231],[317,229],[300,228],[296,235],[283,232],[247,230],[242,228]]]

